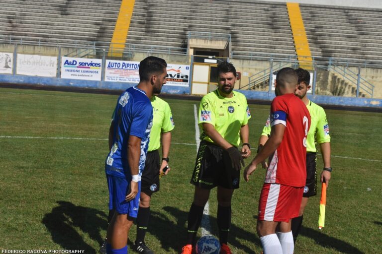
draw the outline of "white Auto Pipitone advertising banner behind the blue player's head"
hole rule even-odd
[[[139,83],[139,62],[106,60],[105,81]]]

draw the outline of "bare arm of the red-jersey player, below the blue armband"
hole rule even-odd
[[[269,137],[268,141],[265,143],[264,147],[256,155],[256,157],[252,160],[251,164],[249,164],[244,170],[245,181],[248,182],[249,176],[256,170],[257,164],[264,161],[276,151],[276,149],[281,144],[281,141],[283,140],[285,128],[286,127],[281,124],[272,127],[271,136]]]

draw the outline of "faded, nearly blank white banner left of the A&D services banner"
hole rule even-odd
[[[57,57],[17,54],[16,73],[28,76],[55,77]]]

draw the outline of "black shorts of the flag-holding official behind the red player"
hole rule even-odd
[[[317,153],[306,153],[306,183],[303,197],[317,195]]]

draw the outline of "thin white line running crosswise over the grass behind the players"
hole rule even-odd
[[[197,132],[199,133],[199,129],[197,129]],[[198,133],[195,134],[198,136]],[[107,138],[93,138],[93,137],[41,137],[41,136],[0,136],[0,138],[26,138],[26,139],[72,139],[72,140],[107,140]],[[175,145],[196,145],[196,149],[199,147],[199,138],[197,138],[196,144],[191,143],[179,143],[179,142],[171,142],[171,144]],[[257,150],[256,148],[251,148],[251,150]],[[318,156],[321,156],[321,154],[317,154]],[[375,162],[382,162],[382,160],[374,160],[374,159],[365,159],[365,158],[357,158],[357,157],[349,157],[349,156],[339,156],[339,155],[331,155],[331,157],[334,158],[342,158],[342,159],[349,159],[349,160],[362,160],[362,161],[375,161]]]

